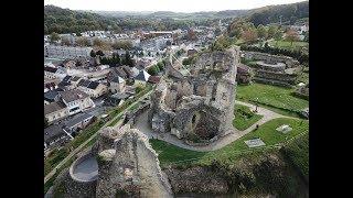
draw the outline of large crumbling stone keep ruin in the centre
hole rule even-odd
[[[201,54],[185,76],[169,63],[151,96],[153,131],[194,142],[231,133],[238,64],[239,47]]]

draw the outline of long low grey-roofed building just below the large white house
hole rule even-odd
[[[64,124],[64,130],[72,134],[73,132],[77,131],[78,129],[85,129],[89,123],[92,123],[94,119],[93,114],[83,113]]]

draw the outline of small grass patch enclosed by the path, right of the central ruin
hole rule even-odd
[[[240,131],[248,129],[263,118],[263,116],[252,112],[248,107],[240,105],[235,105],[234,116],[233,125]]]

